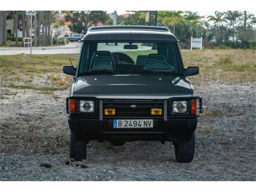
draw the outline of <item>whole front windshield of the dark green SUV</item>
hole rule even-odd
[[[177,43],[84,43],[78,76],[89,74],[183,75]]]

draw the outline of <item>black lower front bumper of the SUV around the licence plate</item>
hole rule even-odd
[[[137,118],[138,119],[138,118]],[[113,128],[113,119],[72,119],[69,127],[77,139],[84,141],[180,141],[191,137],[197,118],[154,119],[154,128]]]

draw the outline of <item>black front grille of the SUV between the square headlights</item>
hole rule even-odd
[[[116,115],[104,116],[104,117],[163,117],[163,114],[151,115],[151,108],[161,108],[164,111],[164,101],[163,100],[104,100],[103,111],[105,108],[115,108]]]

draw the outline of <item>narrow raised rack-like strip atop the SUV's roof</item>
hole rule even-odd
[[[101,30],[149,30],[149,31],[162,31],[170,32],[168,28],[163,26],[141,26],[141,25],[106,25],[106,26],[92,26],[88,31],[101,31]]]

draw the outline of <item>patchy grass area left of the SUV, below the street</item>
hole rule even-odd
[[[72,77],[62,68],[70,65],[69,57],[76,63],[78,54],[0,56],[1,86],[47,92],[67,89]]]

